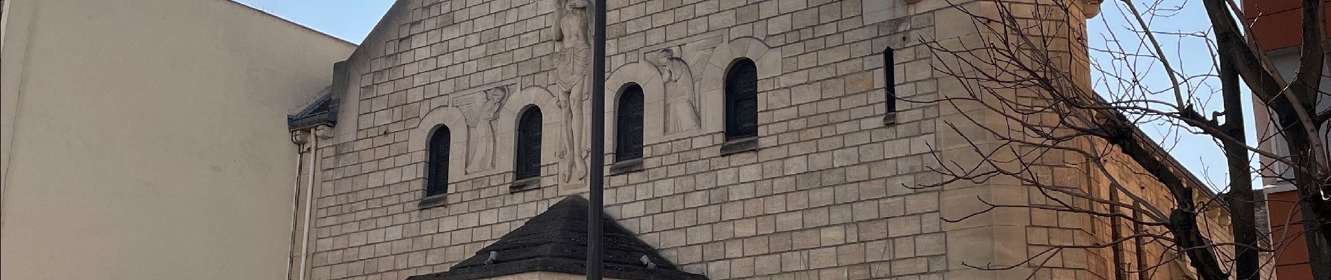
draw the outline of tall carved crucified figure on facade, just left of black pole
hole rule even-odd
[[[555,62],[555,84],[558,106],[563,113],[567,129],[563,131],[564,149],[560,151],[560,174],[566,183],[587,176],[588,151],[584,145],[586,123],[583,123],[583,102],[588,98],[591,81],[591,40],[587,33],[587,0],[555,0],[555,41],[558,49]]]

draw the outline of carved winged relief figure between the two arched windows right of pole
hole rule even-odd
[[[684,54],[689,56],[687,60],[679,57],[671,48],[648,54],[647,61],[656,65],[662,73],[662,81],[666,84],[666,133],[699,127],[703,117],[699,113],[701,111],[701,104],[699,104],[701,98],[697,96],[697,84],[703,78],[699,77],[701,72],[695,73],[689,65],[707,62],[712,50],[720,44],[721,37],[689,42],[683,46]]]

